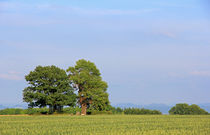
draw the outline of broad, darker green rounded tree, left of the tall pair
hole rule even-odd
[[[75,104],[76,95],[65,70],[56,66],[37,66],[25,76],[28,87],[23,100],[30,108],[49,106],[50,112],[61,111],[63,106]]]

